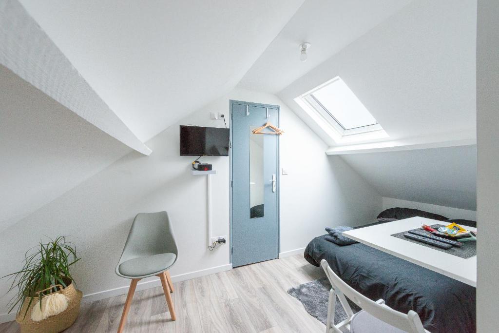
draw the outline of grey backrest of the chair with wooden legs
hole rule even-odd
[[[129,259],[162,253],[178,255],[168,213],[137,214],[128,233],[118,266]]]

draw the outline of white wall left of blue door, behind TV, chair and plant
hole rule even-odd
[[[226,110],[228,105],[227,101]],[[223,126],[223,122],[211,124],[208,112],[183,121],[193,123]],[[193,157],[179,156],[179,126],[167,128],[148,144],[153,149],[150,156],[129,153],[4,230],[0,275],[20,268],[24,251],[42,235],[70,235],[83,258],[74,277],[85,295],[126,286],[129,281],[117,277],[114,268],[132,220],[139,212],[162,210],[170,214],[179,243],[173,276],[228,265],[228,245],[213,252],[206,248],[206,177],[191,174]],[[214,163],[219,172],[213,176],[214,235],[229,235],[229,158],[202,160]],[[1,280],[1,294],[6,287]],[[1,309],[6,301],[1,299]]]

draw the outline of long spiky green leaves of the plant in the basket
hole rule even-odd
[[[35,293],[55,285],[62,285],[66,288],[73,282],[70,267],[78,260],[80,258],[76,256],[74,244],[66,242],[65,236],[59,236],[55,240],[50,239],[47,244],[43,244],[40,240],[39,245],[26,251],[24,266],[20,271],[2,277],[2,279],[7,277],[12,279],[7,293],[17,290],[9,302],[8,312],[10,313],[17,306],[17,313],[19,313],[24,302],[29,302],[24,312],[24,317],[26,317],[31,303],[38,300],[41,309],[43,295],[56,291],[56,288],[41,293],[39,298]]]

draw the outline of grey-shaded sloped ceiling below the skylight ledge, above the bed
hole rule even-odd
[[[383,197],[477,210],[477,146],[342,155]]]

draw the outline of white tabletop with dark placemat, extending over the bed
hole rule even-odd
[[[389,253],[395,257],[410,261],[429,270],[446,275],[464,282],[470,286],[477,286],[477,256],[463,259],[448,253],[408,242],[390,235],[416,229],[422,224],[446,225],[444,221],[413,217],[376,226],[365,227],[343,232],[348,238],[369,245],[375,249]],[[467,230],[477,231],[476,228],[463,226]]]

